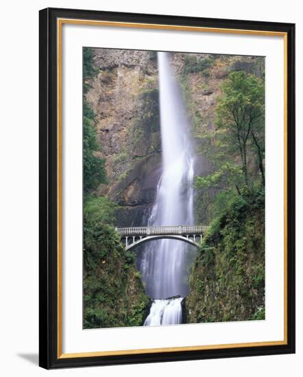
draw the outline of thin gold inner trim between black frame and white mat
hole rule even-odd
[[[62,25],[90,25],[103,27],[133,27],[139,29],[170,29],[184,32],[208,32],[221,34],[246,34],[254,36],[282,36],[284,41],[284,339],[253,343],[230,343],[216,345],[193,345],[170,348],[147,348],[141,350],[114,350],[101,352],[62,353]],[[58,358],[80,358],[94,356],[114,356],[128,354],[148,354],[157,352],[181,352],[196,350],[221,350],[227,348],[260,347],[287,344],[287,33],[267,30],[225,29],[218,27],[193,27],[149,23],[125,23],[114,21],[94,21],[79,19],[57,19],[57,69],[58,69]]]

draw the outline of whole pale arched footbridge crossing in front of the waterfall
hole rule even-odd
[[[134,226],[116,228],[126,250],[157,239],[175,239],[198,246],[208,226]]]

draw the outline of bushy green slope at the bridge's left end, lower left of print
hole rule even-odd
[[[84,202],[84,328],[141,326],[146,317],[149,299],[114,230],[116,210],[108,198]]]

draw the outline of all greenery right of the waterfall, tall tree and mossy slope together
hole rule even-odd
[[[215,195],[186,297],[191,323],[265,318],[264,82],[237,71],[221,90],[215,130],[200,135],[215,169],[195,186]]]

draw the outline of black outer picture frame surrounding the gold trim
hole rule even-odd
[[[208,350],[184,350],[106,356],[60,357],[58,339],[58,19],[114,21],[280,32],[287,38],[287,342]],[[295,352],[295,25],[259,21],[204,19],[47,8],[40,10],[40,367],[84,367],[203,358],[289,354]],[[60,308],[59,308],[60,310]]]

